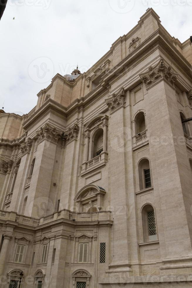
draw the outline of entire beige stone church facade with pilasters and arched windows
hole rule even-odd
[[[191,287],[191,52],[148,9],[0,112],[1,287]]]

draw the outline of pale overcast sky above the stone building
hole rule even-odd
[[[171,36],[189,38],[192,0],[148,4]],[[0,21],[0,108],[28,113],[56,73],[70,74],[77,63],[87,71],[146,9],[146,0],[8,0]]]

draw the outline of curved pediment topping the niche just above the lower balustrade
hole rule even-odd
[[[89,184],[81,188],[81,190],[75,195],[74,201],[81,201],[98,194],[105,195],[105,193],[106,191],[104,188],[94,184]]]

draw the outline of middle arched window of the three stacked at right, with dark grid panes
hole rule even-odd
[[[149,160],[144,158],[139,162],[139,189],[143,190],[152,186]]]

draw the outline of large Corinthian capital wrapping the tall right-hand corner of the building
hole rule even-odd
[[[145,74],[141,74],[140,78],[143,83],[146,83],[147,88],[150,88],[161,79],[165,79],[172,86],[174,86],[174,83],[177,80],[177,76],[177,74],[171,71],[171,66],[166,68],[164,60],[161,59],[157,68],[150,66],[149,71]]]

